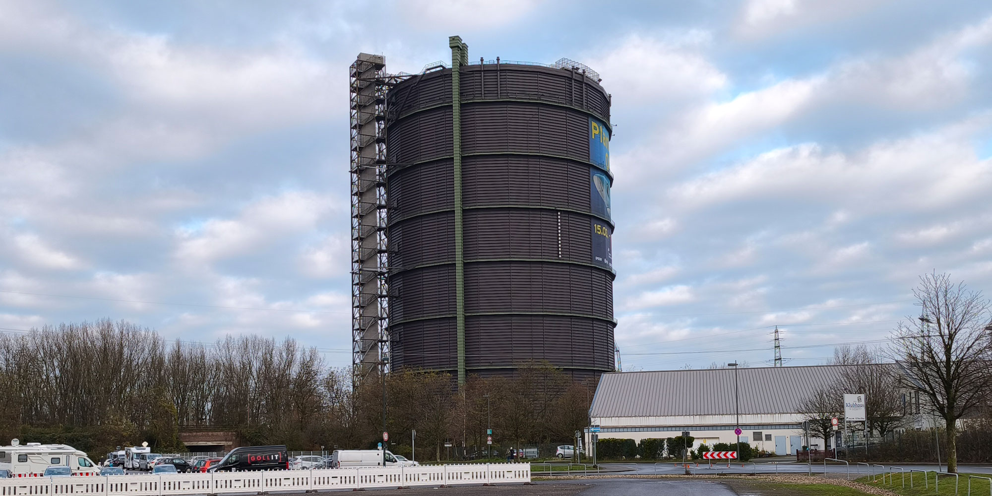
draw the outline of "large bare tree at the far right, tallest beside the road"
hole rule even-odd
[[[947,274],[920,278],[919,318],[900,322],[892,353],[908,386],[919,389],[947,433],[947,471],[957,471],[957,421],[982,406],[990,384],[989,301]]]

